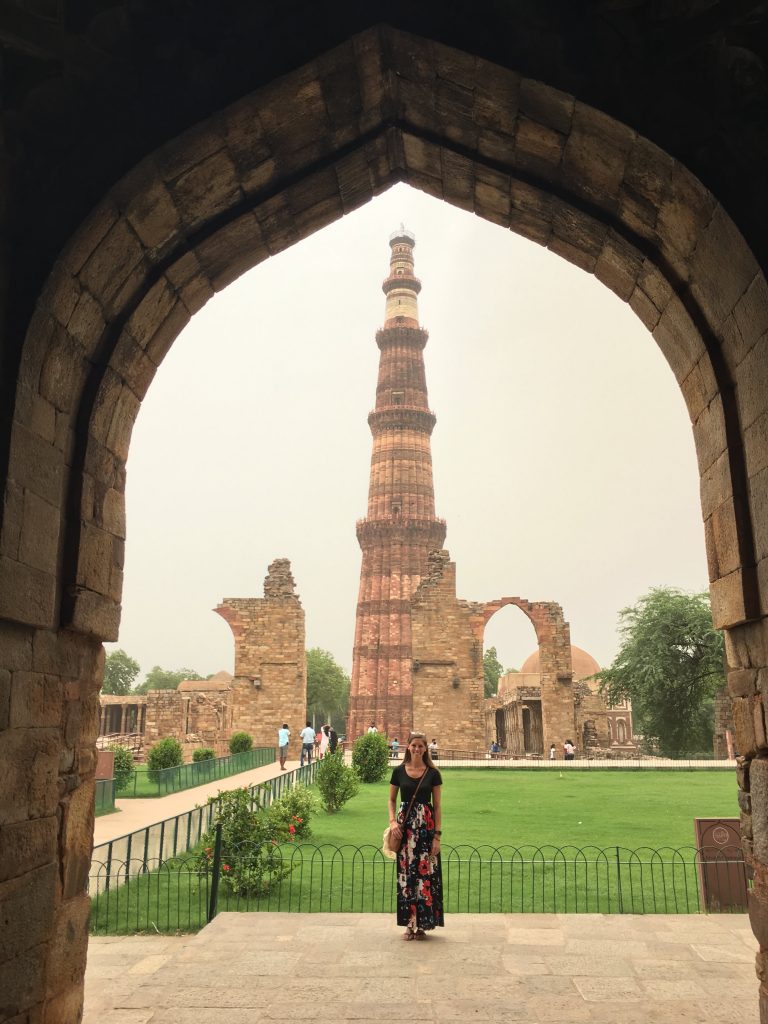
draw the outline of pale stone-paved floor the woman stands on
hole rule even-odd
[[[195,936],[91,939],[84,1024],[757,1024],[745,915],[222,913]]]

